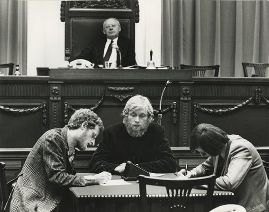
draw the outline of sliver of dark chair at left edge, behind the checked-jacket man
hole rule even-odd
[[[8,200],[8,189],[5,178],[5,163],[0,162],[0,212],[3,212],[5,203]]]

